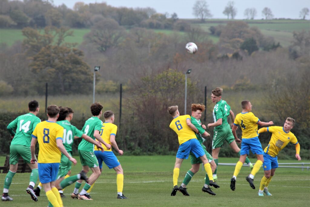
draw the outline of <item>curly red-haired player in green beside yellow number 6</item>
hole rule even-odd
[[[202,105],[202,104],[192,104],[192,107],[191,107],[191,109],[192,109],[191,123],[198,129],[198,133],[195,132],[196,137],[197,137],[198,141],[200,142],[202,149],[205,151],[206,157],[209,160],[209,163],[211,165],[212,172],[214,172],[216,169],[216,164],[215,164],[212,156],[206,151],[206,146],[204,146],[202,144],[205,141],[205,139],[203,137],[210,136],[210,134],[205,131],[206,126],[201,125],[201,121],[200,121],[201,114],[205,110],[205,108],[206,108],[205,105]],[[192,152],[190,152],[189,155],[191,158],[192,168],[187,171],[185,178],[183,180],[183,183],[179,187],[179,191],[182,192],[184,196],[189,196],[189,194],[186,190],[187,189],[186,186],[188,185],[188,183],[190,182],[190,180],[192,179],[194,174],[199,171],[200,164],[202,163],[201,159],[196,158]],[[215,196],[216,194],[210,189],[210,180],[209,180],[209,177],[207,174],[206,174],[205,179],[206,179],[205,185],[202,187],[202,191],[207,192],[207,193]]]

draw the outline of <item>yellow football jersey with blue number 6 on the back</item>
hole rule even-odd
[[[186,119],[191,120],[190,115],[177,116],[169,125],[177,133],[180,145],[190,139],[197,139],[195,132],[186,124]]]

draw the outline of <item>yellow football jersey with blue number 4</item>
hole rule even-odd
[[[259,118],[257,118],[252,112],[239,113],[235,118],[234,125],[240,125],[242,129],[242,139],[257,137],[257,122],[259,122]]]

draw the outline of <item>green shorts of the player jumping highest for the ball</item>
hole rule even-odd
[[[214,129],[212,149],[222,147],[225,140],[228,144],[235,140],[228,123],[224,123],[221,129]]]

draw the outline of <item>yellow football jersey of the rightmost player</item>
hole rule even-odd
[[[268,146],[264,149],[264,152],[272,157],[276,157],[279,152],[289,143],[296,145],[298,143],[297,138],[291,132],[286,133],[283,127],[272,126],[260,128],[258,133],[271,132],[271,139]]]

